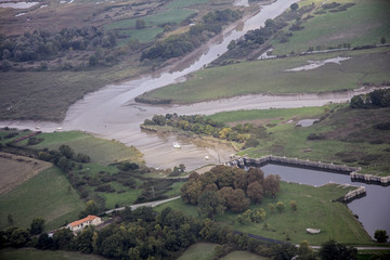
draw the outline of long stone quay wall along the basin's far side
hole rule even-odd
[[[256,166],[261,167],[268,164],[275,164],[275,165],[287,165],[292,167],[300,167],[300,168],[311,168],[311,169],[318,169],[323,171],[333,171],[333,172],[340,172],[344,174],[349,174],[352,180],[356,181],[364,181],[370,183],[378,183],[381,185],[389,185],[390,184],[390,177],[377,177],[372,174],[363,174],[358,173],[360,168],[349,167],[343,165],[334,165],[334,164],[326,164],[322,161],[311,161],[311,160],[301,160],[297,158],[287,158],[274,155],[268,155],[260,158],[248,158],[248,157],[240,157],[231,161],[227,161],[225,165],[229,166],[237,166],[237,167],[246,167],[246,166]]]

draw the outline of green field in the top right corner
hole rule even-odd
[[[290,52],[300,53],[309,48],[322,47],[322,49],[337,48],[339,44],[350,43],[351,47],[377,44],[381,37],[390,40],[390,20],[388,10],[390,2],[387,0],[335,0],[341,4],[355,3],[342,12],[329,12],[320,8],[321,2],[325,1],[303,1],[299,3],[316,3],[310,15],[314,16],[302,23],[304,29],[292,31],[288,42],[280,43],[274,40],[272,43],[274,54],[287,54]],[[324,14],[315,12],[325,11]],[[309,14],[308,14],[309,15]]]

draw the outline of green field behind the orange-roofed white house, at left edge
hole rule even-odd
[[[15,190],[0,196],[0,226],[8,226],[8,214],[14,225],[28,227],[34,218],[46,220],[46,230],[57,229],[84,208],[65,174],[57,168],[44,170]]]

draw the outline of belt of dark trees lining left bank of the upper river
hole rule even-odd
[[[185,55],[210,37],[219,34],[223,25],[237,21],[240,17],[240,11],[232,11],[230,9],[210,12],[203,17],[202,23],[191,26],[187,32],[170,36],[164,41],[156,42],[147,51],[142,52],[141,61],[145,58],[168,60]]]

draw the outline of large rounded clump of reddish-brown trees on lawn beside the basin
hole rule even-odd
[[[224,210],[243,212],[250,200],[260,203],[264,195],[275,196],[280,191],[280,177],[268,176],[258,168],[248,172],[239,168],[216,166],[199,176],[191,173],[181,188],[183,202],[198,205],[199,211],[213,218]]]

